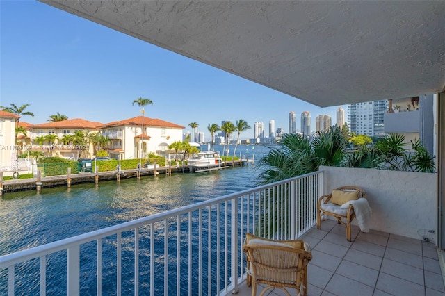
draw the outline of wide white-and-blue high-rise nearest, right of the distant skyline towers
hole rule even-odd
[[[350,132],[370,137],[385,135],[383,116],[387,109],[387,100],[350,104],[348,106]]]

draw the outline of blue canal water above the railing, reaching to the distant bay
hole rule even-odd
[[[238,146],[236,151],[249,158],[254,155],[258,163],[269,148]],[[0,255],[252,188],[258,174],[257,167],[249,164],[195,174],[123,179],[120,183],[43,188],[40,194],[7,193],[0,199]],[[6,292],[3,288],[0,295]]]

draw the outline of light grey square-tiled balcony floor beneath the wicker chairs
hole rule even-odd
[[[313,259],[307,268],[309,295],[445,295],[435,245],[423,240],[353,227],[353,242],[337,222],[326,220],[302,240],[309,242]],[[261,293],[261,287],[257,295]],[[251,295],[243,285],[237,295]],[[295,289],[289,289],[296,295]],[[285,295],[271,290],[266,295]]]

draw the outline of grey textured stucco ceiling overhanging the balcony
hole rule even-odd
[[[42,2],[317,106],[445,87],[445,1]]]

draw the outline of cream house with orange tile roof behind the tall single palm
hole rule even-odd
[[[168,146],[182,140],[184,126],[158,118],[137,116],[99,126],[110,139],[111,158],[145,158],[147,154],[165,154]]]

